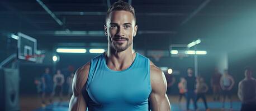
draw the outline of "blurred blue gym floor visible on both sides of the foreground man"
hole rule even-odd
[[[178,103],[178,95],[169,95],[170,107],[172,111],[186,110],[186,99],[183,98],[181,104]],[[54,98],[53,104],[46,105],[45,108],[41,107],[41,98],[38,95],[20,95],[20,108],[23,111],[41,111],[41,110],[68,110],[69,98],[64,96],[63,102],[59,104],[58,98]],[[207,104],[211,111],[219,110],[230,110],[229,100],[226,100],[225,109],[221,109],[221,102],[214,102],[211,95],[207,95]],[[198,100],[198,109],[205,110],[202,100]],[[233,95],[233,110],[240,110],[241,103],[236,95]],[[191,102],[190,109],[193,109],[193,104]]]

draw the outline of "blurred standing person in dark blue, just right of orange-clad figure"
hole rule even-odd
[[[190,100],[193,100],[195,110],[197,110],[197,103],[196,103],[196,77],[193,75],[193,69],[187,69],[187,77],[186,79],[186,97],[187,97],[187,110],[189,110]]]

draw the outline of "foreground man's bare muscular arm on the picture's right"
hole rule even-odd
[[[153,63],[150,63],[150,82],[152,88],[149,97],[151,110],[170,110],[169,99],[166,95],[167,82],[164,73]]]

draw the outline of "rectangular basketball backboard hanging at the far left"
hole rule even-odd
[[[36,61],[36,39],[18,32],[18,58]]]

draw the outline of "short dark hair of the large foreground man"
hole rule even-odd
[[[119,1],[117,1],[115,3],[113,3],[110,8],[108,8],[106,19],[105,19],[106,23],[107,23],[108,17],[110,16],[110,13],[113,12],[113,11],[127,11],[127,12],[131,12],[131,14],[134,16],[134,19],[136,21],[134,7],[132,7],[127,2],[119,0]]]

